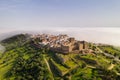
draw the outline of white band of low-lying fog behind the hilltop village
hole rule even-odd
[[[0,39],[6,36],[14,35],[17,33],[47,33],[47,34],[68,34],[75,37],[77,40],[86,40],[89,42],[106,43],[120,46],[120,28],[50,28],[50,29],[34,29],[19,32],[8,33],[7,35],[0,36]]]

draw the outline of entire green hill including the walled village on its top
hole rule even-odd
[[[120,50],[67,35],[18,34],[0,42],[1,80],[119,80]]]

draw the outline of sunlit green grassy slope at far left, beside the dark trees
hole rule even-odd
[[[37,52],[40,53],[41,51],[37,51]],[[3,55],[0,56],[0,80],[4,80],[4,79],[14,80],[14,76],[7,76],[7,75],[9,74],[9,71],[11,72],[11,69],[15,67],[16,60],[19,58],[19,56],[21,56],[21,58],[27,61],[30,58],[33,59],[32,57],[34,57],[35,55],[36,55],[36,50],[28,46],[21,46],[21,47],[17,47],[15,49],[6,51]],[[37,57],[35,59],[37,59]],[[45,63],[44,60],[42,60],[42,62]],[[25,64],[29,65],[29,63],[27,62]],[[47,66],[47,64],[45,65]],[[49,73],[47,74],[49,75]]]

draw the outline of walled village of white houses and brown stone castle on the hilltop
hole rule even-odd
[[[88,49],[88,42],[77,41],[74,37],[69,37],[67,35],[39,34],[32,35],[31,38],[34,41],[34,45],[38,48],[47,47],[51,51],[58,53],[88,53],[91,51]]]

